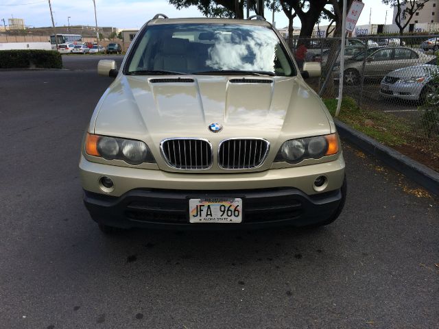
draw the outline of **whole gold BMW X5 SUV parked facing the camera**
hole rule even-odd
[[[84,134],[84,203],[116,228],[320,226],[344,206],[340,140],[276,29],[168,19],[134,38]]]

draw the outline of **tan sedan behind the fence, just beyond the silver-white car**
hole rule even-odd
[[[357,84],[361,77],[365,53],[346,60],[344,63],[344,82]],[[372,47],[366,54],[364,77],[383,77],[390,71],[418,64],[433,64],[436,56],[426,55],[407,47]],[[337,67],[335,71],[340,70]]]

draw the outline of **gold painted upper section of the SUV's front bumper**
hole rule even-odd
[[[297,188],[307,195],[314,195],[339,189],[344,180],[344,159],[342,154],[331,162],[309,164],[300,167],[270,169],[243,173],[174,173],[154,169],[138,169],[101,164],[80,158],[80,179],[84,190],[106,194],[99,188],[99,179],[107,176],[115,184],[108,195],[120,197],[138,188],[156,188],[189,191],[228,191],[234,189]],[[313,182],[320,175],[327,176],[327,186],[315,191]]]

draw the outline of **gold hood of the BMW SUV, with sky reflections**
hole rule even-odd
[[[209,131],[219,123],[219,133]],[[330,134],[333,120],[301,77],[119,75],[99,101],[90,132],[145,141],[157,159],[165,138],[265,138]],[[274,150],[274,151],[273,151]]]

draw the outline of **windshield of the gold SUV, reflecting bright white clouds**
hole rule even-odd
[[[250,71],[296,75],[270,27],[238,24],[152,25],[139,38],[126,68],[126,74]]]

